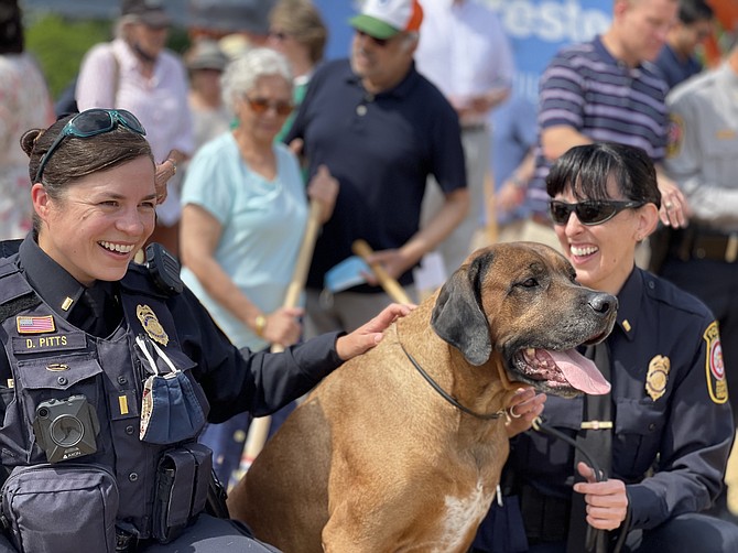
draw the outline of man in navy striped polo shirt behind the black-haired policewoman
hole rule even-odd
[[[676,0],[615,0],[612,24],[605,34],[554,56],[541,78],[536,170],[527,197],[533,213],[529,227],[535,235],[523,239],[558,248],[547,216],[545,177],[569,148],[599,141],[636,145],[660,169],[669,120],[666,84],[651,62],[676,13]],[[659,187],[662,223],[684,226],[686,200],[661,171]]]

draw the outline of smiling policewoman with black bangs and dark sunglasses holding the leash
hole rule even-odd
[[[696,299],[634,265],[638,242],[658,221],[653,164],[637,148],[587,144],[560,158],[546,185],[556,236],[577,280],[616,294],[619,308],[597,348],[603,355],[594,357],[610,372],[607,402],[549,397],[543,415],[610,468],[606,481],[596,481],[589,463],[575,466],[565,440],[533,431],[515,436],[506,474],[514,476],[510,488],[524,527],[518,530],[529,549],[507,551],[589,551],[585,517],[595,529],[615,531],[605,547],[738,551],[738,527],[698,514],[720,490],[734,437],[715,318]],[[509,434],[541,412],[541,398],[531,395],[521,393],[511,409]],[[593,414],[600,408],[607,414]],[[599,445],[587,445],[593,440]],[[582,478],[573,486],[575,473]],[[482,542],[502,512],[493,509],[484,523],[477,551],[492,551]]]

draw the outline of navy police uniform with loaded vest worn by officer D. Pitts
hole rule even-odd
[[[120,282],[86,290],[31,237],[0,260],[0,551],[274,551],[238,523],[202,514],[211,463],[196,443],[202,425],[180,418],[158,429],[177,430],[176,443],[142,441],[151,375],[134,343],[151,344],[183,376],[172,392],[187,404],[180,414],[196,406],[221,422],[269,414],[313,388],[341,362],[336,335],[283,356],[239,351],[188,290],[167,294],[133,264]],[[173,408],[153,398],[154,413]],[[116,550],[117,539],[129,549]]]

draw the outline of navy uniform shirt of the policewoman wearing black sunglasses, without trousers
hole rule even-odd
[[[612,477],[623,480],[632,528],[654,528],[717,496],[732,443],[719,335],[709,311],[669,282],[634,269],[618,294],[610,346],[615,433]],[[582,398],[550,395],[544,416],[574,436]],[[529,431],[509,465],[540,492],[571,497],[574,452]],[[654,468],[656,474],[645,478]]]

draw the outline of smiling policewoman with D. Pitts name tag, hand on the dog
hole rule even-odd
[[[205,420],[279,409],[408,311],[284,354],[236,349],[171,259],[130,263],[154,228],[144,133],[130,112],[91,109],[21,140],[35,219],[0,260],[7,551],[271,551],[202,513]]]

